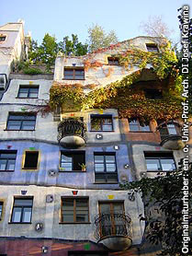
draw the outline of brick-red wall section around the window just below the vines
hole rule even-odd
[[[159,132],[156,132],[157,123],[150,122],[151,132],[130,132],[128,119],[121,119],[121,133],[125,134],[127,141],[147,141],[160,144],[161,138]]]

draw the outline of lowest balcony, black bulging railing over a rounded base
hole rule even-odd
[[[127,250],[132,244],[130,216],[113,213],[96,215],[95,237],[109,250]]]

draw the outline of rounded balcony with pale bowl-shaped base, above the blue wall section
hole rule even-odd
[[[58,142],[70,148],[86,144],[86,125],[80,119],[65,119],[58,125]]]

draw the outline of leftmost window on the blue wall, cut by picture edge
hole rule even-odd
[[[16,165],[17,151],[0,151],[0,171],[14,171]]]

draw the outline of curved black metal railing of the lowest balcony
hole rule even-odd
[[[95,237],[98,241],[109,237],[131,238],[130,224],[129,215],[119,213],[96,215]]]

